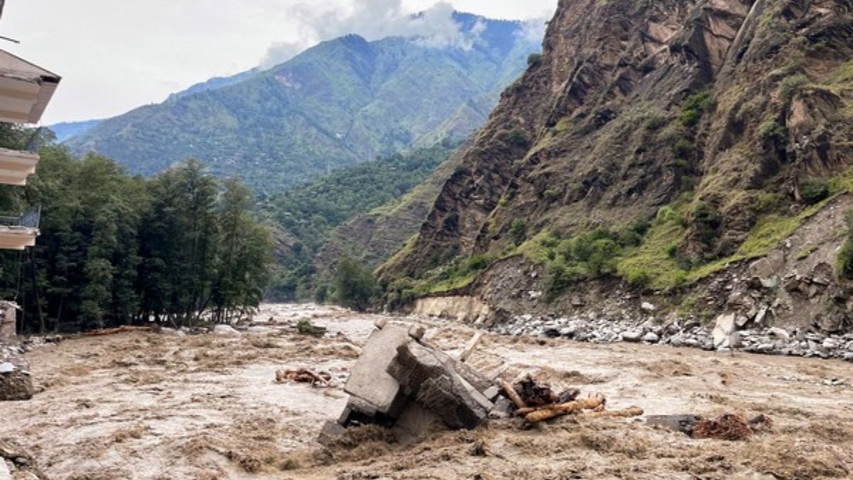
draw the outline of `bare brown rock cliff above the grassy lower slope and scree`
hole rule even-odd
[[[756,248],[756,229],[805,218],[821,198],[804,185],[853,162],[851,12],[850,0],[561,0],[543,57],[381,274],[429,278],[484,254],[546,263],[560,250],[526,255],[537,238],[662,213],[678,220],[635,229],[639,245],[614,250],[624,261],[606,274],[639,265],[650,271],[637,283],[664,287],[638,256],[666,249],[670,283],[684,284],[715,261],[763,255],[785,236]]]

